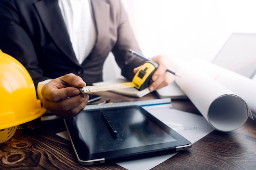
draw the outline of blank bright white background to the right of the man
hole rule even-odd
[[[255,0],[122,0],[147,57],[211,61],[231,33],[256,32]]]

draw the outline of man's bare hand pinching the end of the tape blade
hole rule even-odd
[[[81,97],[77,88],[85,86],[83,79],[73,73],[53,79],[41,90],[43,107],[59,117],[74,117],[88,103],[88,93]]]

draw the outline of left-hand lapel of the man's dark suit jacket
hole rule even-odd
[[[36,9],[41,17],[45,28],[51,35],[57,46],[70,57],[72,61],[79,64],[63,20],[57,0],[40,0],[35,3]]]

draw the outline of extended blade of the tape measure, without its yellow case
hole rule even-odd
[[[84,97],[85,93],[93,93],[100,91],[111,91],[120,88],[129,88],[136,87],[137,85],[134,82],[127,83],[116,83],[116,84],[106,84],[106,85],[95,85],[95,86],[85,86],[83,88],[79,88],[81,92],[81,96]]]

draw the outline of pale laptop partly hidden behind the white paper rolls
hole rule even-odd
[[[256,81],[256,33],[232,33],[212,63]],[[186,99],[175,82],[156,93],[160,98]]]

